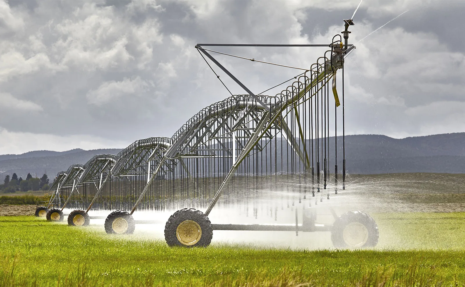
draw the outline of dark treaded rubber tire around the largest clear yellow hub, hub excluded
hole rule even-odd
[[[200,239],[193,245],[186,245],[179,241],[177,228],[185,221],[193,221],[201,228]],[[181,209],[170,216],[165,225],[165,241],[168,246],[182,247],[206,247],[210,245],[213,238],[212,223],[208,217],[197,209]]]

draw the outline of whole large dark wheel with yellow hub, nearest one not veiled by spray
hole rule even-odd
[[[168,246],[206,247],[213,237],[212,223],[197,209],[181,209],[170,216],[165,225]]]

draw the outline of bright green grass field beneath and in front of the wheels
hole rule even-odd
[[[136,235],[0,217],[0,286],[463,286],[465,213],[376,219],[380,230],[396,227],[380,239],[390,250],[168,248]],[[412,247],[406,242],[425,249],[394,250]]]

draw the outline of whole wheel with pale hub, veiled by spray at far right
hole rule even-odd
[[[367,248],[378,244],[378,225],[361,211],[349,211],[334,222],[331,241],[336,248]]]

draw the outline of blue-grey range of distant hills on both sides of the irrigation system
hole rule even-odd
[[[334,137],[329,140],[333,146]],[[340,172],[342,170],[342,137],[338,137],[337,141]],[[309,143],[310,141],[307,141],[307,144]],[[315,141],[314,144],[316,144]],[[286,153],[289,156],[291,149],[284,148],[284,150],[288,150]],[[12,175],[13,172],[23,178],[28,172],[40,177],[44,171],[50,178],[53,178],[59,171],[66,170],[71,164],[84,164],[95,155],[117,154],[118,152],[120,149],[75,149],[63,152],[37,150],[21,155],[0,155],[0,179],[6,174]],[[284,157],[286,153],[283,154]],[[278,159],[280,157],[279,154]],[[382,135],[346,136],[345,157],[347,171],[352,174],[465,173],[465,133],[402,139]],[[330,150],[328,168],[330,172],[334,172],[333,149]]]

